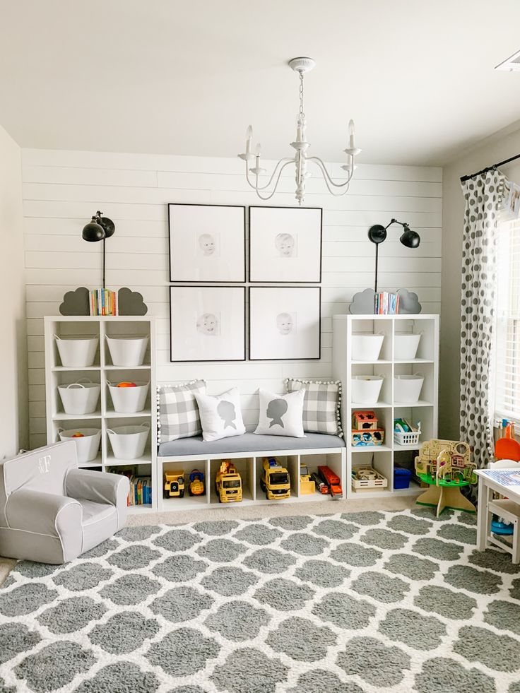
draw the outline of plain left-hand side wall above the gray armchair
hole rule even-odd
[[[28,444],[20,147],[0,126],[0,459]]]

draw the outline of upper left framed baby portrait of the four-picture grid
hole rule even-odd
[[[168,205],[170,282],[244,282],[246,208]]]

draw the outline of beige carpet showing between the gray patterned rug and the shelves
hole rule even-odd
[[[331,503],[284,503],[280,505],[232,505],[225,508],[208,510],[190,510],[175,513],[138,513],[130,515],[129,527],[154,524],[182,524],[185,522],[201,522],[204,520],[240,519],[252,520],[265,517],[296,516],[296,515],[326,515],[333,513],[350,513],[362,510],[387,510],[398,512],[413,507],[414,496],[396,498],[366,498],[359,500],[336,501]],[[4,583],[9,572],[16,564],[10,558],[0,557],[0,586]]]

